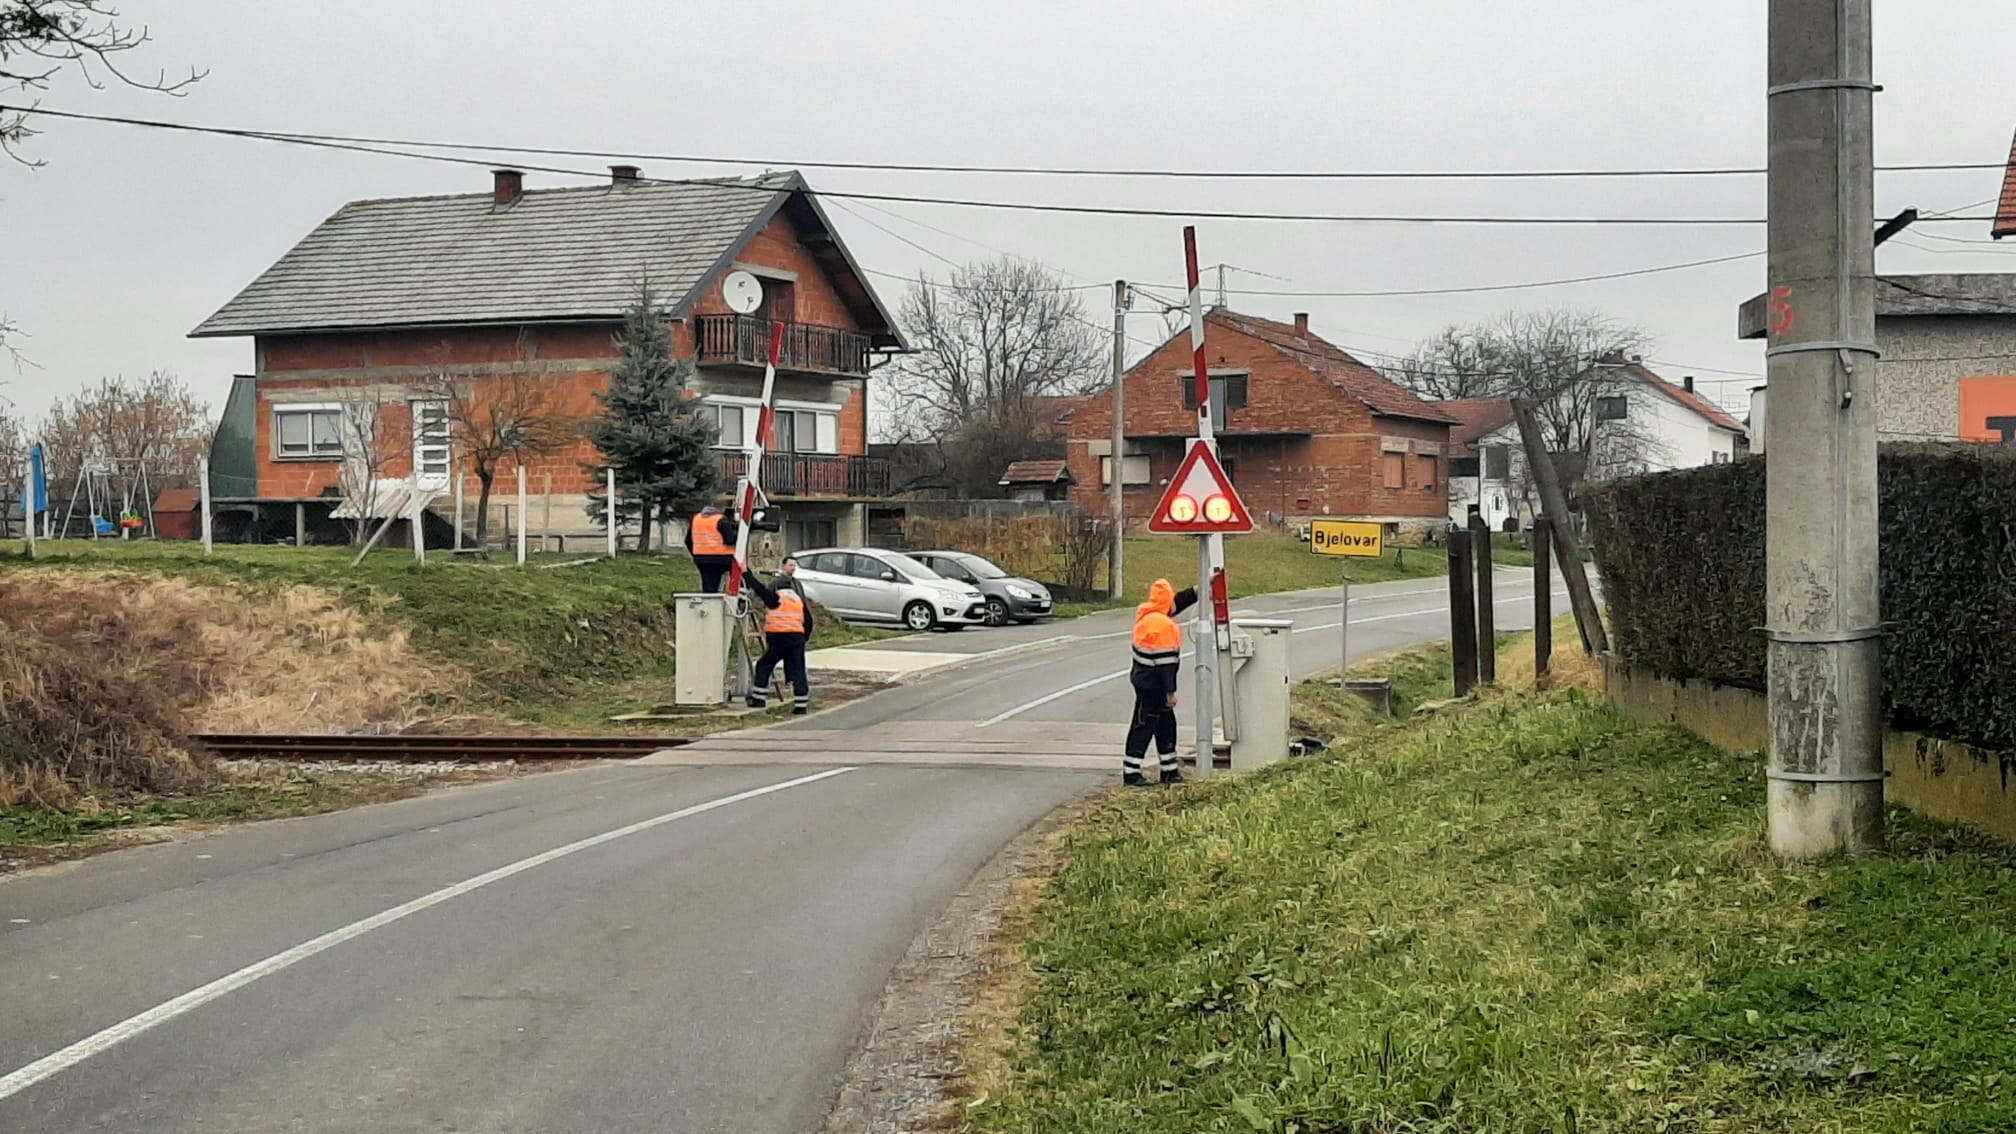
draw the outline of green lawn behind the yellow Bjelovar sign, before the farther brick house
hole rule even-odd
[[[1151,535],[1127,541],[1127,599],[1121,603],[1058,603],[1060,617],[1135,605],[1147,597],[1157,577],[1177,589],[1198,585],[1198,541],[1177,535]],[[1226,537],[1226,587],[1232,597],[1270,595],[1335,587],[1343,579],[1343,559],[1316,555],[1306,543],[1280,535]],[[1391,579],[1425,579],[1450,573],[1450,557],[1439,547],[1391,549],[1383,559],[1351,559],[1351,581],[1387,583]],[[1103,579],[1103,577],[1101,577]],[[1105,585],[1101,581],[1101,585]]]

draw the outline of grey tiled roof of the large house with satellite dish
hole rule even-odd
[[[681,309],[796,174],[351,202],[192,337],[621,315],[645,272]],[[772,190],[772,192],[760,192]]]

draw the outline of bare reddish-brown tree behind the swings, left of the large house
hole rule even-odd
[[[149,486],[187,488],[210,458],[212,430],[210,406],[157,369],[137,381],[105,377],[58,400],[40,432],[52,484],[73,482],[87,466],[127,476],[145,466]]]

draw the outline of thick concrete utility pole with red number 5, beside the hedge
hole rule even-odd
[[[1883,843],[1871,0],[1770,2],[1770,843]]]

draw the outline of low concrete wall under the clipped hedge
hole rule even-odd
[[[1770,716],[1756,690],[1677,682],[1619,662],[1609,662],[1607,678],[1611,704],[1633,720],[1677,724],[1732,751],[1762,753],[1770,743]],[[2016,789],[2010,785],[2016,755],[1887,730],[1883,769],[1889,773],[1883,793],[1891,803],[2016,841]]]

